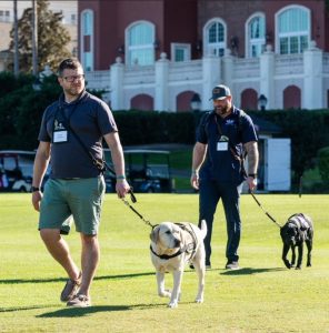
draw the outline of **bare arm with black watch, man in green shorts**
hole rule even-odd
[[[33,164],[33,188],[41,188],[41,183],[47,171],[48,164],[50,159],[50,142],[42,142],[40,141],[34,164]],[[42,199],[41,191],[32,192],[32,204],[36,211],[40,210],[40,201]]]

